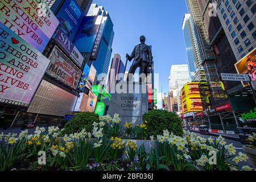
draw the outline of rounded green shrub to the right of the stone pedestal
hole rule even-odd
[[[166,110],[151,110],[143,114],[143,122],[147,121],[148,134],[162,135],[163,130],[168,130],[177,136],[182,136],[183,129],[181,119],[177,114]]]

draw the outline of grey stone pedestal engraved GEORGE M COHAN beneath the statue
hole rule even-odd
[[[148,111],[148,92],[144,82],[119,82],[115,87],[115,93],[111,94],[111,101],[104,100],[107,114],[119,114],[122,119],[133,125],[142,123],[142,115]]]

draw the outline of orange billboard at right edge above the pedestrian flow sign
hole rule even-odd
[[[238,74],[248,73],[251,80],[256,80],[256,48],[244,56],[240,61],[235,64]],[[247,86],[246,82],[243,82],[243,86]]]

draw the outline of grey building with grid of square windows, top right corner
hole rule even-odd
[[[237,61],[256,47],[256,3],[218,1],[217,15]]]

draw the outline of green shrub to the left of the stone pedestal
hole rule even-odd
[[[98,114],[91,112],[77,113],[71,121],[67,122],[61,134],[72,134],[85,129],[88,132],[93,130],[93,122],[99,122]]]

